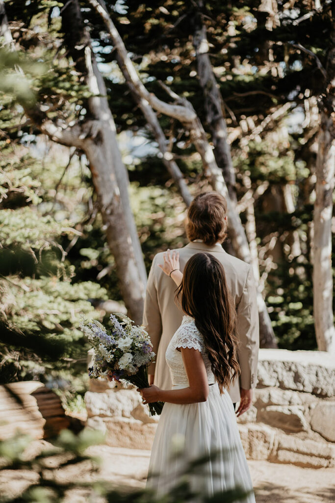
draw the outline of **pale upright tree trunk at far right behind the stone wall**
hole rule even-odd
[[[313,309],[317,347],[335,353],[332,312],[331,216],[334,190],[335,131],[331,115],[321,112],[316,159],[313,243]]]

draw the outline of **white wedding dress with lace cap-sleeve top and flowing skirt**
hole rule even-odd
[[[220,394],[203,338],[190,316],[183,317],[166,350],[172,389],[189,385],[182,355],[177,348],[200,351],[206,367],[209,395],[205,402],[164,404],[152,447],[147,486],[163,495],[186,480],[192,491],[203,496],[239,487],[249,491],[248,496],[239,501],[255,503],[233,402],[227,391]],[[189,463],[200,457],[207,457],[206,462],[193,474],[185,474]]]

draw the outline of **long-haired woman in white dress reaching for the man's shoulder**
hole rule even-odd
[[[235,306],[225,271],[211,254],[198,253],[179,270],[178,254],[164,254],[159,266],[178,286],[185,316],[166,351],[172,389],[138,389],[143,403],[164,401],[152,448],[148,486],[164,495],[181,482],[190,463],[206,460],[186,475],[202,496],[239,488],[240,501],[255,503],[232,400],[227,392],[239,375]],[[178,455],[176,442],[182,445]],[[183,479],[184,480],[184,479]]]

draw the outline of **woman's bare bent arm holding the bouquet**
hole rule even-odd
[[[156,401],[169,403],[205,402],[208,397],[208,380],[201,353],[196,349],[180,348],[189,386],[183,389],[160,389],[157,386],[138,389],[143,403]]]

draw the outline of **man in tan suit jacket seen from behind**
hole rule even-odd
[[[240,380],[229,389],[233,402],[240,402],[237,415],[252,404],[252,392],[257,382],[259,325],[256,285],[249,264],[229,255],[221,243],[226,238],[227,203],[216,192],[195,197],[187,212],[186,233],[189,243],[179,248],[180,270],[199,251],[213,254],[224,266],[228,288],[237,308],[237,334],[240,341],[238,360]],[[169,368],[165,362],[167,346],[181,324],[183,313],[174,302],[175,284],[158,267],[163,265],[163,253],[155,256],[149,273],[143,324],[150,334],[156,353],[156,364],[149,367],[149,384],[171,389]]]

